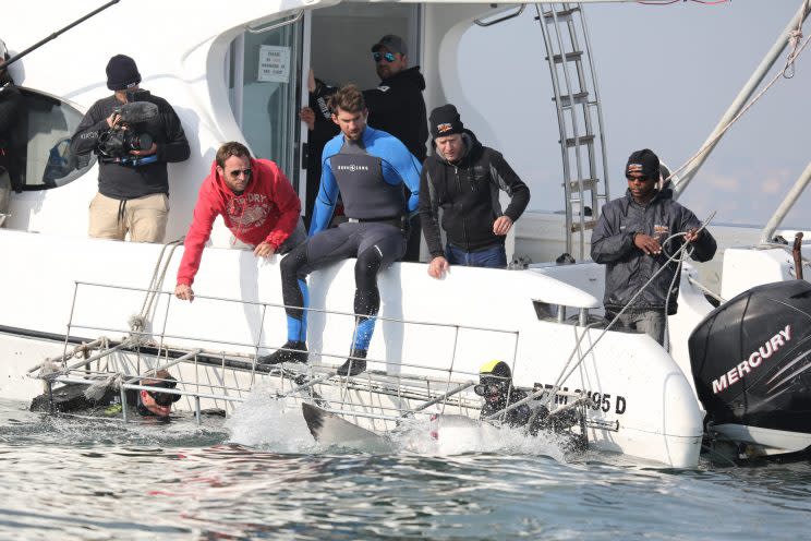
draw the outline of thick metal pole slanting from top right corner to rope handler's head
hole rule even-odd
[[[788,25],[786,25],[786,28],[780,33],[780,35],[777,37],[777,40],[774,43],[766,56],[763,57],[760,65],[758,65],[758,68],[752,73],[752,76],[749,77],[747,84],[743,86],[743,88],[741,88],[740,93],[735,98],[735,101],[733,101],[727,111],[721,118],[721,120],[718,121],[718,125],[715,127],[715,130],[713,130],[713,132],[706,139],[704,145],[707,145],[713,139],[715,139],[718,133],[724,130],[724,128],[729,123],[729,121],[731,121],[735,116],[740,112],[740,110],[746,106],[747,101],[749,101],[749,98],[752,97],[754,92],[758,89],[758,86],[760,86],[765,76],[768,74],[768,71],[772,69],[783,51],[786,49],[790,33],[795,31],[797,26],[806,20],[806,17],[808,17],[809,11],[807,11],[807,4],[808,2],[802,2],[800,9],[797,10],[795,16],[791,17],[791,21],[788,23]],[[687,189],[692,178],[699,171],[701,166],[704,165],[704,161],[706,161],[706,158],[710,157],[710,154],[713,152],[715,146],[721,142],[721,139],[722,137],[718,137],[717,141],[707,146],[707,148],[701,155],[697,156],[695,159],[692,160],[685,172],[681,173],[679,183],[674,187],[674,199],[678,199],[678,196],[681,195],[681,193]],[[702,147],[704,145],[702,145]]]

